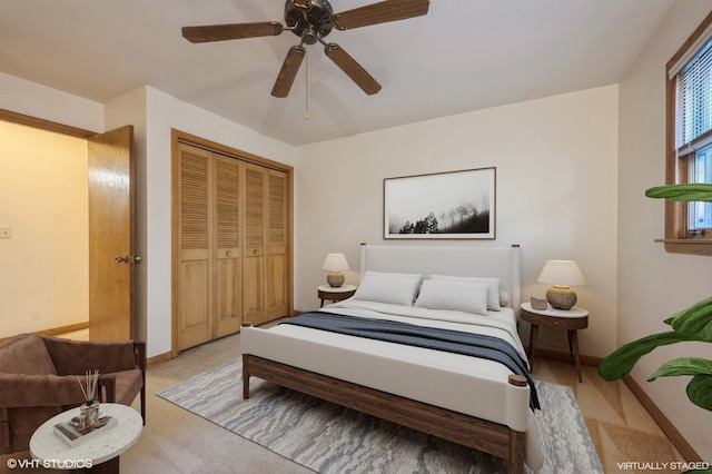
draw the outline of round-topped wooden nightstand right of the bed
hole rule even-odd
[[[581,378],[581,358],[578,355],[578,329],[585,329],[589,327],[589,312],[584,308],[574,306],[573,308],[565,309],[534,309],[531,303],[522,303],[522,319],[532,324],[532,332],[530,334],[530,372],[534,368],[534,355],[536,353],[536,338],[538,337],[540,326],[557,327],[560,329],[566,329],[568,333],[568,356],[571,357],[571,365],[576,363],[576,369],[578,371],[578,382],[583,382]]]

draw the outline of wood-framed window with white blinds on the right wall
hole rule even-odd
[[[668,62],[666,184],[712,184],[712,13]],[[712,255],[712,203],[665,204],[665,249]]]

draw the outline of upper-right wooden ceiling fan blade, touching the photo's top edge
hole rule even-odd
[[[334,26],[339,30],[348,30],[422,17],[427,13],[429,4],[429,0],[385,0],[336,13],[334,16]]]

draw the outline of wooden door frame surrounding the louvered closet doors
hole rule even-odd
[[[202,137],[198,137],[186,131],[181,131],[175,128],[170,130],[170,149],[171,149],[171,358],[178,357],[179,343],[178,343],[178,275],[180,265],[180,249],[178,248],[179,241],[179,220],[178,209],[180,200],[177,196],[178,181],[177,170],[180,160],[180,147],[179,144],[188,144],[195,147],[205,148],[210,151],[222,154],[229,157],[235,157],[243,161],[259,165],[266,168],[276,169],[287,175],[287,195],[289,196],[289,209],[287,216],[287,226],[289,228],[289,236],[287,238],[287,251],[289,260],[287,263],[287,315],[294,316],[294,167],[285,165],[279,161],[275,161],[268,158],[260,157],[237,148],[228,147]]]

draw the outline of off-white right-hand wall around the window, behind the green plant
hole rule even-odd
[[[712,257],[668,254],[663,201],[644,197],[664,184],[665,63],[710,12],[709,0],[680,0],[621,83],[619,161],[617,344],[664,332],[671,314],[712,294]],[[710,344],[685,343],[655,349],[633,377],[703,460],[712,460],[712,414],[685,395],[690,377],[645,379],[675,357],[710,358]]]

